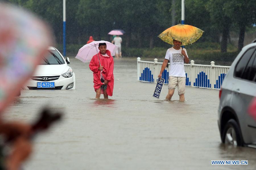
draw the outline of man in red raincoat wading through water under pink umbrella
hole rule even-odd
[[[104,95],[104,99],[113,95],[114,88],[114,60],[106,43],[99,43],[100,52],[92,57],[89,64],[90,70],[93,72],[94,90],[96,99],[100,98],[100,94]],[[100,61],[99,61],[100,60]]]

